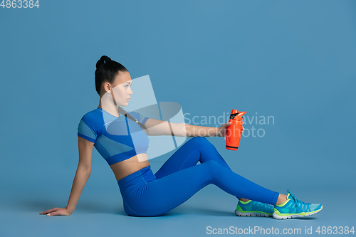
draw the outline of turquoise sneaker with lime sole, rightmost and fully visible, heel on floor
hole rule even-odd
[[[288,190],[287,201],[274,206],[273,218],[286,219],[303,216],[311,216],[323,210],[322,204],[307,204],[295,198]]]

